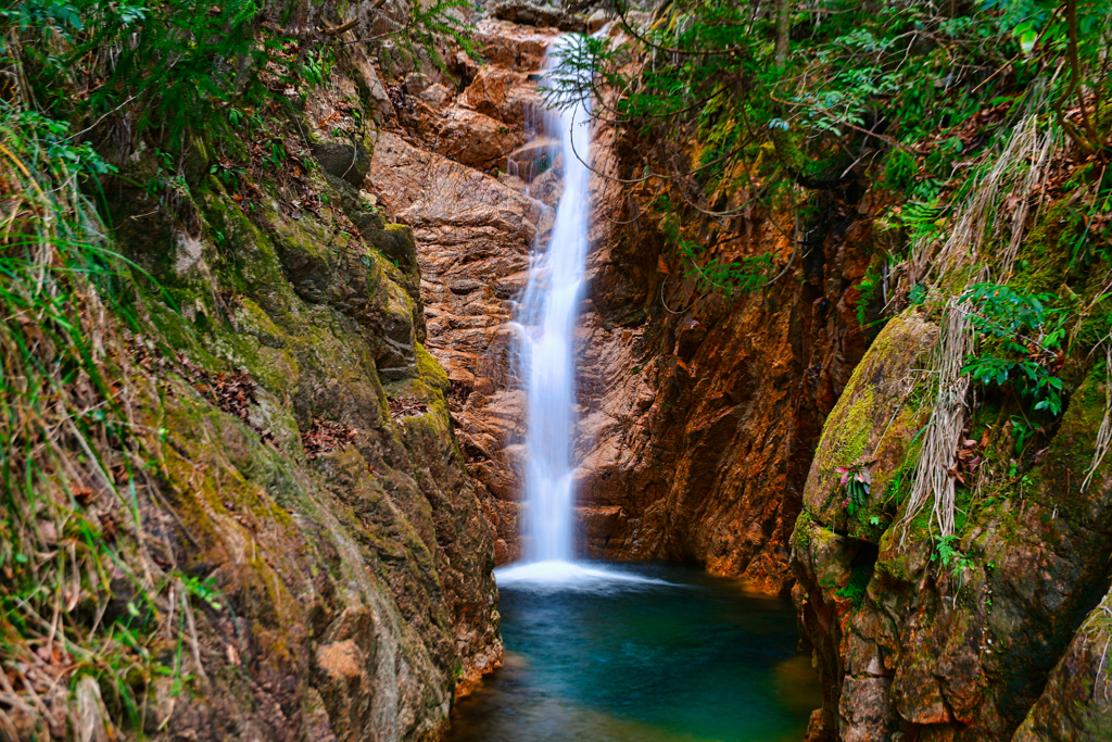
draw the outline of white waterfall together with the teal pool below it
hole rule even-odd
[[[807,657],[795,651],[790,603],[684,567],[574,561],[588,120],[578,106],[535,121],[552,144],[534,141],[532,154],[546,147],[547,162],[563,161],[564,191],[516,318],[528,404],[525,558],[495,571],[505,665],[456,706],[448,740],[798,739],[822,696]],[[526,167],[524,179],[533,180]]]

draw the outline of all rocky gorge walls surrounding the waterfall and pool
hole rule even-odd
[[[20,607],[33,629],[0,673],[2,734],[434,740],[498,666],[493,570],[520,555],[514,300],[563,169],[536,81],[560,28],[606,19],[492,10],[481,59],[446,50],[450,75],[380,77],[351,43],[322,85],[268,80],[287,105],[245,111],[230,150],[197,138],[170,161],[127,120],[90,127],[120,170],[100,180],[111,244],[137,267],[135,321],[96,325],[132,444],[96,428],[105,466],[81,459],[32,513],[31,553],[50,555],[39,568],[89,534],[108,545],[73,556],[56,605],[67,631],[116,639],[54,641]],[[1094,355],[1104,276],[1060,247],[1089,197],[1064,185],[1076,154],[1056,146],[1045,196],[994,201],[1037,205],[1009,277],[1088,318],[1065,409],[1016,453],[1015,400],[972,397],[943,556],[902,509],[943,314],[906,281],[890,307],[862,291],[907,237],[877,172],[801,185],[820,215],[804,225],[744,190],[728,216],[681,207],[714,259],[772,254],[773,278],[729,294],[669,245],[663,187],[620,182],[645,142],[605,123],[594,142],[580,552],[791,592],[823,680],[813,742],[1109,739],[1112,474],[1094,442],[1112,359]],[[943,266],[934,289],[960,275]],[[856,512],[848,467],[872,481]],[[71,694],[76,657],[99,674]]]

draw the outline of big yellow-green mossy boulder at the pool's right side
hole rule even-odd
[[[1108,703],[1093,691],[1106,677],[1094,642],[1112,555],[1108,467],[1079,486],[1104,416],[1103,373],[1082,382],[1015,496],[963,505],[954,548],[965,561],[943,565],[924,520],[904,535],[887,496],[929,417],[914,402],[916,369],[937,332],[917,310],[887,325],[827,419],[807,478],[794,594],[826,689],[813,739],[1005,740],[1021,722],[1016,740],[1104,739]],[[982,418],[972,437],[1006,462],[1012,442],[995,423]],[[851,459],[875,461],[873,492],[886,493],[856,516],[835,471]]]

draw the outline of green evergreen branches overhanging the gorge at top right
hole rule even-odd
[[[1103,161],[1112,151],[1112,7],[1100,0],[676,0],[652,16],[619,0],[614,13],[622,33],[569,44],[548,100],[589,100],[646,145],[620,177],[668,189],[699,221],[736,215],[723,207],[742,190],[766,214],[798,210],[798,189],[867,170],[905,201],[893,222],[929,241],[1022,116]]]

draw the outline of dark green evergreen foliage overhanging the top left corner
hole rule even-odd
[[[451,14],[465,6],[416,3],[405,22],[381,16],[390,30],[366,41],[388,37],[411,61],[426,55],[443,68],[437,47],[445,39],[473,49]],[[358,30],[355,21],[330,27],[320,20],[336,12],[304,0],[17,0],[0,11],[9,31],[0,65],[20,80],[24,98],[54,118],[86,126],[119,120],[127,133],[153,130],[176,151],[187,135],[227,135],[229,108],[260,107],[321,85],[337,51],[350,43],[342,31]],[[317,21],[306,28],[305,19]]]

